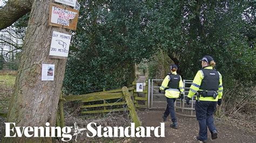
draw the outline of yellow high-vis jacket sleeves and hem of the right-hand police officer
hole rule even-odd
[[[213,67],[206,67],[205,69],[213,69]],[[218,71],[219,73],[219,71]],[[200,91],[200,85],[201,85],[201,81],[203,80],[204,75],[203,75],[203,71],[199,70],[196,74],[196,76],[194,77],[194,80],[191,84],[190,87],[190,91],[188,92],[187,97],[192,98],[192,96],[194,94],[196,94],[197,91]],[[200,101],[218,101],[218,99],[221,99],[223,95],[223,85],[222,85],[222,77],[221,74],[219,73],[219,89],[218,89],[218,97],[217,98],[213,98],[213,97],[200,97],[199,100]],[[197,99],[197,97],[196,97]]]

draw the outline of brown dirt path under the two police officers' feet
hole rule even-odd
[[[163,111],[139,111],[138,116],[143,122],[143,126],[160,126]],[[170,116],[165,122],[164,138],[138,138],[136,142],[199,142],[196,140],[199,126],[196,118],[188,118],[178,115],[178,129],[170,127]],[[208,142],[256,142],[256,133],[239,130],[237,127],[223,123],[220,119],[215,119],[218,130],[218,139],[211,140],[208,131]]]

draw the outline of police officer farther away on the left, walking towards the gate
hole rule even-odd
[[[172,122],[170,126],[172,128],[178,128],[177,118],[175,115],[174,110],[174,102],[180,96],[180,92],[184,92],[184,86],[181,79],[181,76],[177,74],[177,66],[171,66],[171,74],[168,74],[165,78],[163,83],[161,84],[160,90],[165,90],[165,96],[167,101],[167,107],[164,112],[163,119],[166,121],[169,114],[171,114]]]

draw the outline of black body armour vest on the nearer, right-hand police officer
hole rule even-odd
[[[201,82],[201,90],[213,90],[218,91],[219,89],[219,73],[215,69],[201,69],[204,73],[204,78]]]

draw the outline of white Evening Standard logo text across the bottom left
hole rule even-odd
[[[27,126],[19,127],[15,123],[4,123],[5,124],[5,136],[7,138],[17,138],[17,137],[58,137],[62,141],[70,141],[73,136],[75,136],[75,141],[80,134],[81,136],[85,133],[86,137],[151,137],[151,131],[155,137],[165,137],[165,125],[160,123],[160,126],[139,126],[135,127],[134,123],[127,127],[111,127],[102,125],[97,126],[96,123],[87,124],[86,128],[79,128],[77,123],[74,124],[74,131],[72,131],[72,126],[65,126],[63,128],[49,126],[50,123],[46,122],[45,127],[43,126]]]

